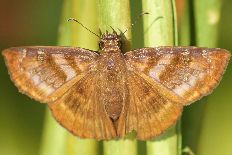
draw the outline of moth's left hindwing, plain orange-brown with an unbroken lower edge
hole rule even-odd
[[[57,121],[74,135],[109,140],[116,137],[116,131],[99,101],[98,79],[98,74],[88,73],[49,107]]]

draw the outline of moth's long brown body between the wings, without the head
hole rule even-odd
[[[103,52],[100,57],[101,102],[109,117],[116,120],[126,102],[125,62],[120,51]]]

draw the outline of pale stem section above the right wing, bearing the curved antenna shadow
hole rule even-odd
[[[171,0],[144,0],[144,44],[145,46],[174,45],[174,16]]]

